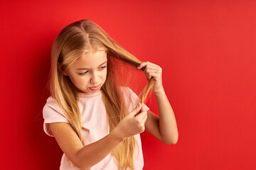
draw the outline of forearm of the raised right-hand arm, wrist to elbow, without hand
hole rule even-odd
[[[159,108],[159,132],[165,143],[176,144],[178,140],[178,128],[174,111],[164,92],[164,89],[155,94]]]

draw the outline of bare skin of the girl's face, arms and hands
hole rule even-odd
[[[78,92],[92,94],[97,91],[92,91],[90,87],[104,84],[106,80],[107,69],[105,65],[107,64],[102,64],[106,60],[106,52],[90,51],[76,60],[64,74],[70,77],[73,84],[77,87]],[[87,69],[77,69],[84,67]],[[137,135],[144,132],[144,130],[165,144],[176,144],[178,140],[178,129],[174,111],[164,92],[161,67],[151,62],[142,62],[138,69],[142,69],[143,67],[145,67],[144,73],[146,74],[146,78],[151,79],[153,77],[154,79],[152,91],[156,96],[159,116],[151,111],[146,112],[142,104],[139,103],[138,107],[127,114],[109,135],[86,146],[82,145],[78,135],[76,135],[68,123],[49,124],[50,130],[53,132],[58,145],[78,168],[89,169],[104,159],[112,149],[117,147],[127,137]],[[81,75],[81,73],[85,74]]]

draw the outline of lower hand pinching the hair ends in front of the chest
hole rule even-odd
[[[142,104],[139,103],[137,108],[119,122],[115,130],[117,130],[119,137],[125,140],[127,137],[144,132],[146,118],[147,112],[142,107]]]

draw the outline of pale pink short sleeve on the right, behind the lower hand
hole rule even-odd
[[[139,97],[129,87],[122,87],[122,91],[124,91],[124,94],[127,96],[126,102],[127,102],[128,110],[133,111],[134,108],[136,108],[136,106],[137,106],[137,101],[138,101]],[[131,100],[129,100],[129,98]],[[148,106],[144,105],[144,108],[146,109],[146,111],[149,111]]]

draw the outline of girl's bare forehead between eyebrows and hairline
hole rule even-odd
[[[90,51],[75,60],[73,67],[94,69],[107,61],[107,52],[105,51]]]

